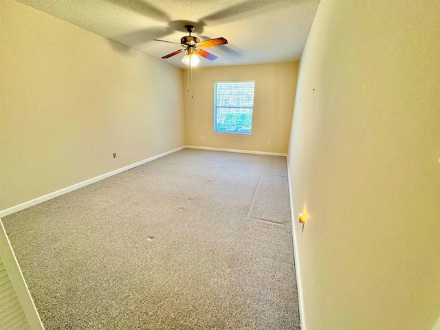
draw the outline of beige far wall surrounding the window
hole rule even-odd
[[[287,153],[298,63],[196,67],[192,73],[193,98],[187,88],[184,93],[187,145]],[[212,133],[214,81],[217,80],[255,80],[252,137]],[[183,84],[188,85],[186,70]],[[267,140],[271,143],[267,144]]]

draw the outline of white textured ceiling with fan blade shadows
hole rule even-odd
[[[154,58],[181,49],[195,26],[201,41],[223,36],[228,45],[206,50],[219,58],[199,66],[250,65],[298,61],[319,0],[19,0]],[[184,53],[164,59],[181,63]]]

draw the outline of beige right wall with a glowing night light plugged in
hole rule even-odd
[[[289,172],[303,323],[432,329],[440,314],[440,2],[322,0]],[[313,91],[315,90],[315,91]]]

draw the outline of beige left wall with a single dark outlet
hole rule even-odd
[[[16,1],[0,15],[0,210],[184,145],[181,69]]]

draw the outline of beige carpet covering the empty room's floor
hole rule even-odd
[[[299,329],[285,157],[184,149],[3,219],[50,329]]]

